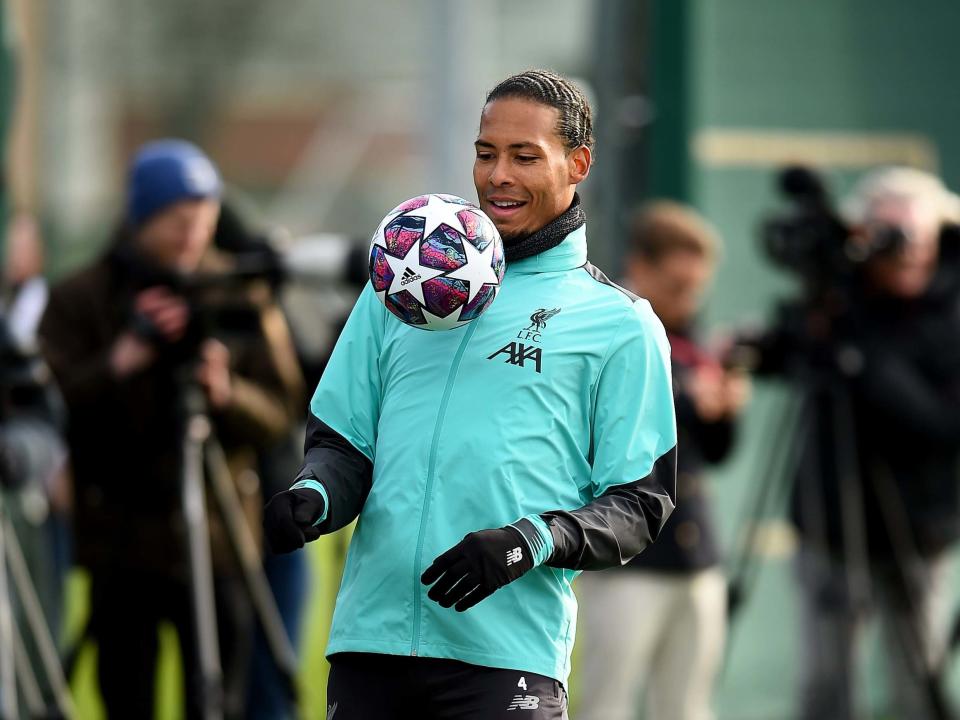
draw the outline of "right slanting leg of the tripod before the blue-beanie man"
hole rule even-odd
[[[237,497],[236,487],[230,478],[230,467],[227,465],[223,448],[212,437],[207,442],[207,461],[210,465],[214,496],[220,506],[220,514],[227,528],[230,542],[240,562],[244,584],[263,627],[263,633],[277,669],[284,678],[291,699],[296,702],[297,655],[263,572],[260,549],[244,520],[243,508]]]

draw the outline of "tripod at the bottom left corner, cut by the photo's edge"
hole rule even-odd
[[[21,717],[18,690],[22,693],[25,711],[30,718],[77,717],[70,688],[30,571],[0,494],[0,718]],[[27,645],[20,628],[14,623],[14,594],[26,618],[28,629],[40,653],[44,674],[52,689],[55,707],[47,706],[40,689]]]

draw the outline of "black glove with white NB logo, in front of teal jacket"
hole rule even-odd
[[[496,530],[479,530],[440,555],[428,567],[420,582],[436,583],[427,597],[443,607],[456,603],[463,612],[534,567],[526,538],[507,525]]]

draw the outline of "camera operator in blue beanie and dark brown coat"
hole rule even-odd
[[[92,576],[90,632],[111,718],[152,716],[164,619],[180,635],[187,717],[202,713],[180,506],[185,386],[203,391],[251,528],[261,504],[256,453],[288,431],[301,402],[269,288],[198,280],[222,277],[232,264],[212,245],[221,188],[197,147],[143,146],[114,242],[54,287],[40,327],[69,412],[77,554]],[[240,717],[252,611],[216,516],[210,536],[224,714]]]

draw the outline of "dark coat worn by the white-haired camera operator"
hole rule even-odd
[[[787,372],[813,408],[797,432],[791,503],[807,542],[846,557],[846,537],[885,559],[960,538],[960,297],[949,281],[915,300],[857,293],[815,353],[783,336],[768,344],[779,362],[767,370],[816,360]]]

